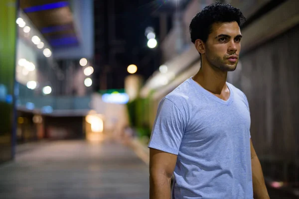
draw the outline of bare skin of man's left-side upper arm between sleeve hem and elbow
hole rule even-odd
[[[163,175],[171,178],[177,155],[166,153],[157,149],[149,149],[149,173],[151,176]]]

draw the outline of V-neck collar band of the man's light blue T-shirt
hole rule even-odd
[[[212,93],[210,93],[209,91],[205,90],[202,86],[200,86],[197,82],[195,82],[192,77],[189,78],[189,82],[190,84],[194,87],[194,89],[196,89],[197,91],[199,91],[200,93],[203,93],[204,95],[206,95],[209,99],[223,103],[225,105],[229,105],[232,103],[233,99],[234,99],[234,92],[233,89],[231,88],[231,85],[226,82],[226,85],[230,91],[230,95],[228,100],[222,100],[220,98],[218,98],[217,96],[213,95]]]

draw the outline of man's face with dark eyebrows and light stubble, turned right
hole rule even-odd
[[[205,56],[221,71],[234,71],[241,50],[241,31],[237,22],[214,23],[205,43]]]

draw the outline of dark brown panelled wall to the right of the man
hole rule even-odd
[[[241,88],[260,155],[298,157],[299,26],[241,58]]]

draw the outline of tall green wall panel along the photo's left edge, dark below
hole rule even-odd
[[[0,163],[14,154],[15,20],[15,0],[0,0]]]

